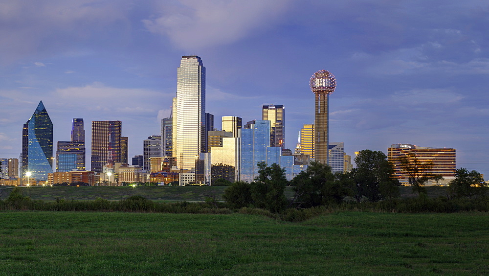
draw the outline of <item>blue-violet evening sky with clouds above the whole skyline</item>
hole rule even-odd
[[[129,158],[170,115],[182,55],[206,67],[206,112],[284,105],[293,149],[314,121],[311,75],[334,74],[330,142],[449,147],[489,176],[486,0],[2,0],[0,157],[19,158],[39,101],[54,144],[83,118],[121,120]],[[56,147],[56,146],[54,146]]]

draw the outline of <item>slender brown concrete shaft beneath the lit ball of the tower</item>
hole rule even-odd
[[[316,93],[314,159],[328,164],[328,93]]]

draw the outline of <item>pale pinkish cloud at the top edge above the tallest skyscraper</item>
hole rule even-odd
[[[220,46],[260,32],[283,20],[288,0],[200,1],[183,0],[182,8],[142,20],[155,34],[168,36],[184,49]]]

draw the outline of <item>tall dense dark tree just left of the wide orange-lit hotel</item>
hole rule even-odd
[[[356,168],[352,174],[356,183],[356,201],[363,196],[377,202],[385,196],[395,196],[399,181],[393,177],[392,163],[381,151],[362,150],[355,157]]]

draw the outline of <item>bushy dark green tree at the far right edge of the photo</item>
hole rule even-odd
[[[450,182],[449,191],[454,197],[484,196],[488,184],[484,182],[481,173],[478,171],[469,172],[466,168],[455,171],[455,179]]]

